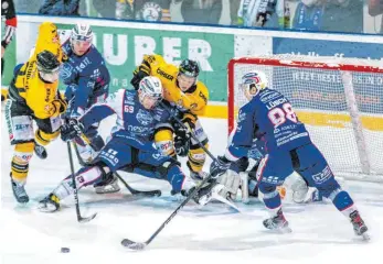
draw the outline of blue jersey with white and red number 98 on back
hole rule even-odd
[[[268,88],[240,109],[238,124],[226,157],[236,161],[247,156],[254,139],[265,142],[266,153],[290,151],[311,142],[290,101],[279,91]]]

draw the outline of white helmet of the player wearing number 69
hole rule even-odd
[[[145,99],[149,98],[153,101],[153,106],[157,106],[163,98],[163,90],[161,80],[155,76],[147,76],[141,79],[139,87],[139,99],[142,105],[145,105]]]

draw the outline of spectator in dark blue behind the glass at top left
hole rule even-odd
[[[45,0],[40,8],[40,14],[79,15],[79,0]]]

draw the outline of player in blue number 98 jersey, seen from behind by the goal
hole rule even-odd
[[[305,124],[291,108],[289,100],[267,86],[263,72],[251,72],[242,77],[242,89],[248,102],[240,109],[238,124],[232,144],[223,156],[211,164],[211,174],[225,172],[232,162],[247,155],[253,139],[266,142],[266,155],[256,173],[259,191],[270,218],[263,221],[267,229],[291,231],[281,210],[276,190],[294,169],[309,186],[323,197],[352,223],[357,235],[368,239],[368,227],[360,217],[350,195],[342,190],[320,151],[311,142]]]

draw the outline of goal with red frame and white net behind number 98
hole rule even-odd
[[[383,61],[270,55],[228,63],[228,130],[246,103],[242,76],[263,70],[339,176],[383,183]]]

